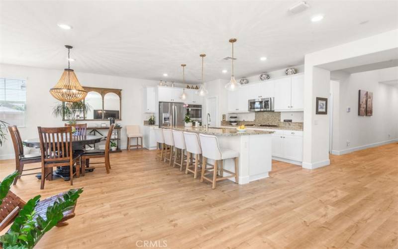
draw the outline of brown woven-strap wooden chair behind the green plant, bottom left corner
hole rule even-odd
[[[35,208],[35,218],[40,215],[41,218],[46,220],[47,208],[53,205],[58,198],[62,198],[65,193],[68,193],[68,191],[40,201]],[[7,196],[2,200],[2,203],[0,205],[0,231],[2,231],[14,221],[19,211],[23,208],[25,204],[26,202],[24,202],[21,198],[19,198],[11,191],[8,191]],[[61,221],[58,222],[58,224],[56,225],[57,227],[68,225],[68,223],[65,221],[75,217],[75,207],[76,205],[71,210],[64,212],[64,217]]]

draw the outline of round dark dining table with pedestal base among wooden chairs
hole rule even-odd
[[[64,138],[64,141],[68,141],[69,138]],[[103,139],[103,136],[100,135],[73,135],[72,136],[72,150],[84,150],[86,145],[94,145],[100,142]],[[40,139],[39,137],[36,138],[30,138],[23,140],[23,144],[26,147],[31,147],[31,148],[40,148]],[[75,167],[74,167],[75,169]],[[53,180],[53,179],[58,179],[62,178],[65,181],[70,180],[70,168],[69,166],[61,166],[57,167],[57,170],[50,174],[47,179],[48,180]],[[41,173],[38,173],[36,175],[38,179],[41,179]]]

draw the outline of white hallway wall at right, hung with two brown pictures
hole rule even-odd
[[[332,89],[338,96],[333,112],[333,154],[344,154],[398,139],[398,88],[380,83],[398,67],[342,77]],[[336,75],[336,74],[334,74]],[[396,78],[398,79],[398,77]],[[373,92],[373,116],[358,116],[358,90]],[[351,112],[347,112],[347,107]],[[347,143],[349,141],[349,143]]]

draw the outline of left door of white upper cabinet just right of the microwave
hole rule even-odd
[[[281,78],[274,80],[275,82],[275,99],[274,109],[275,111],[290,111],[291,109],[291,98],[292,98],[292,79]]]

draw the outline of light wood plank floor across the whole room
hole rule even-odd
[[[76,217],[37,248],[136,248],[141,241],[173,249],[398,247],[398,143],[330,156],[316,170],[274,161],[267,179],[221,181],[215,190],[155,153],[114,153],[110,174],[99,168],[74,179],[85,189]],[[14,165],[0,164],[2,179]],[[56,180],[40,190],[26,176],[12,190],[28,200],[69,188]]]

